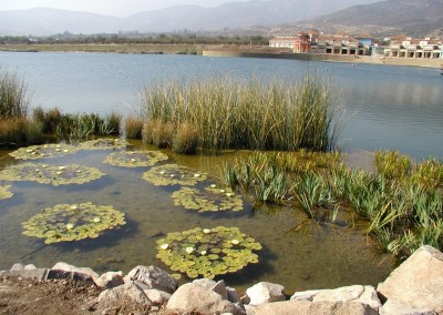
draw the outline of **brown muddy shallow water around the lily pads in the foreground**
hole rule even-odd
[[[146,148],[132,142],[135,148]],[[148,150],[156,150],[148,146]],[[0,151],[0,170],[21,163]],[[176,155],[163,151],[169,160],[207,172],[208,180],[197,187],[217,181],[217,170],[231,153],[222,155]],[[341,213],[337,224],[319,226],[306,224],[305,214],[297,209],[254,206],[247,199],[239,212],[197,213],[174,205],[171,194],[179,189],[154,186],[142,174],[150,167],[126,169],[104,164],[111,150],[79,151],[64,158],[38,160],[47,164],[82,164],[100,169],[106,175],[82,185],[53,186],[33,182],[7,182],[12,185],[13,197],[0,200],[0,270],[13,263],[32,263],[51,267],[59,261],[76,266],[90,266],[97,273],[122,270],[128,272],[136,265],[156,265],[168,271],[158,258],[156,241],[169,232],[181,232],[197,226],[237,226],[257,240],[264,248],[259,263],[243,271],[217,276],[228,285],[246,288],[258,281],[285,285],[287,292],[309,288],[338,287],[351,284],[372,284],[384,280],[394,267],[395,260],[373,248],[361,222]],[[73,243],[47,245],[42,240],[22,234],[21,223],[55,204],[92,202],[113,205],[125,213],[127,224],[104,232],[99,238]],[[183,281],[186,281],[184,277]]]

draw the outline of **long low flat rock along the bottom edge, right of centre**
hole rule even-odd
[[[260,304],[254,315],[375,315],[372,307],[359,302],[285,301]]]

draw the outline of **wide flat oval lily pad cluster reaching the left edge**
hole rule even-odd
[[[0,180],[32,181],[54,186],[84,184],[103,175],[104,173],[95,167],[76,164],[56,166],[42,163],[23,163],[11,165],[0,171]]]

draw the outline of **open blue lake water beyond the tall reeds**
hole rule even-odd
[[[443,158],[443,77],[439,69],[197,55],[11,52],[0,52],[0,67],[25,80],[35,105],[122,114],[137,109],[137,93],[152,82],[214,75],[299,81],[308,72],[320,72],[346,105],[343,149],[381,148],[419,160]]]

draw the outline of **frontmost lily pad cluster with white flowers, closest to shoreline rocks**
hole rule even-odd
[[[157,258],[172,271],[190,278],[199,275],[214,278],[258,263],[253,251],[261,250],[261,245],[238,227],[217,226],[168,233],[157,241]]]

